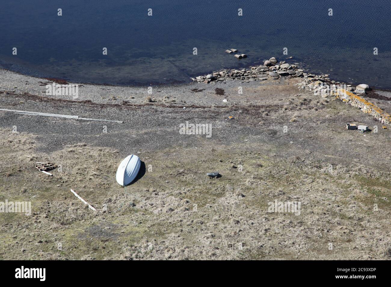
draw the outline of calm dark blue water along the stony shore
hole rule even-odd
[[[390,20],[389,0],[1,1],[0,64],[76,82],[170,84],[293,56],[334,79],[391,88]]]

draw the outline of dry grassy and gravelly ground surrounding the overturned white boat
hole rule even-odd
[[[390,259],[391,129],[295,81],[242,83],[243,95],[237,83],[163,87],[149,103],[141,88],[78,102],[2,87],[5,109],[124,123],[0,112],[0,201],[32,205],[0,214],[0,259]],[[179,134],[186,121],[210,123],[212,137]],[[142,170],[121,187],[131,153]],[[45,161],[52,177],[34,167]],[[300,214],[268,212],[275,200]]]

